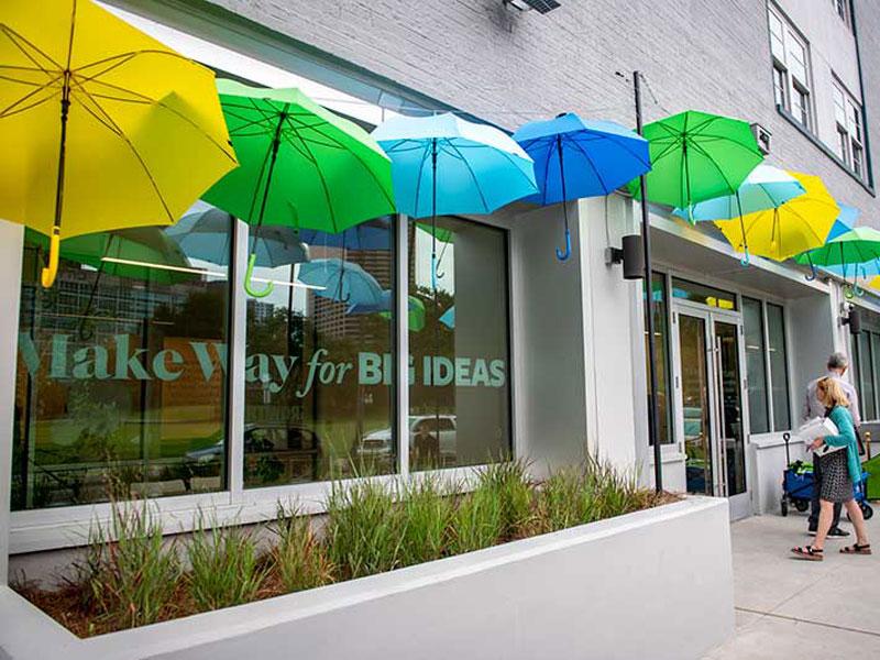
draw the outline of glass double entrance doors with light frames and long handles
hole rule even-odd
[[[691,308],[676,311],[680,438],[689,493],[730,499],[749,515],[740,321]]]

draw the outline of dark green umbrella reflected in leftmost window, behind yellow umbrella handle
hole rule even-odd
[[[25,242],[46,250],[50,240],[28,230]],[[61,242],[61,257],[91,266],[99,275],[155,284],[189,282],[200,274],[179,245],[156,227],[134,227],[65,239]]]

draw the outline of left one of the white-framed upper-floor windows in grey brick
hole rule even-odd
[[[810,50],[806,41],[773,7],[768,7],[768,16],[776,102],[812,131]]]

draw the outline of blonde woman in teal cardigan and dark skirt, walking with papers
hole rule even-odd
[[[853,426],[853,416],[847,407],[849,400],[846,398],[840,385],[834,378],[822,378],[816,385],[816,397],[831,410],[828,419],[837,426],[837,436],[825,436],[813,441],[813,449],[818,449],[822,444],[831,447],[843,447],[838,451],[826,453],[823,457],[816,455],[816,460],[822,461],[822,491],[820,492],[820,515],[816,540],[812,546],[803,548],[792,548],[798,557],[812,561],[822,561],[822,550],[825,546],[825,537],[832,526],[834,517],[834,505],[837,502],[844,503],[849,519],[856,528],[856,542],[853,546],[842,548],[844,554],[870,554],[871,544],[868,542],[865,518],[861,509],[853,498],[853,485],[861,480],[861,465],[859,464],[859,448],[856,441],[856,430]]]

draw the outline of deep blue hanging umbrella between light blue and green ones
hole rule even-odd
[[[584,121],[573,112],[529,122],[514,140],[535,161],[540,191],[527,201],[544,206],[608,195],[651,168],[647,140],[614,122]],[[565,250],[557,250],[560,261],[571,254],[564,204],[562,212]]]

